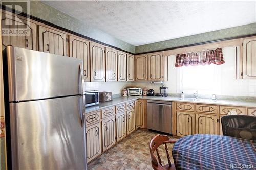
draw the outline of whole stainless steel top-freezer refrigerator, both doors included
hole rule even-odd
[[[12,169],[86,169],[82,60],[6,50]]]

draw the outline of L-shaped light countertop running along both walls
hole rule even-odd
[[[114,98],[109,102],[100,102],[96,106],[90,106],[86,108],[86,113],[105,109],[108,107],[116,106],[118,104],[134,101],[137,99],[146,100],[158,100],[158,101],[172,101],[172,102],[188,102],[188,103],[201,103],[201,104],[212,104],[212,105],[229,105],[229,106],[242,106],[242,107],[256,107],[256,101],[236,101],[236,100],[211,100],[211,99],[198,99],[193,98],[180,99],[178,97],[157,97],[157,96],[129,96]]]

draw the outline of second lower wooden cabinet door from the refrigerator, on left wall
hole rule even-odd
[[[115,116],[102,120],[102,150],[105,151],[116,143]]]

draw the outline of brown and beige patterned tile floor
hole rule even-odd
[[[152,169],[148,143],[157,134],[158,133],[140,129],[135,131],[88,164],[88,169]],[[169,136],[169,138],[171,138],[171,136]],[[172,147],[173,144],[168,145],[171,158]],[[159,151],[163,164],[168,164],[164,145],[159,148]],[[171,161],[174,163],[173,159]]]

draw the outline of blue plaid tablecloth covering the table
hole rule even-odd
[[[197,134],[173,147],[176,169],[256,169],[256,141]]]

